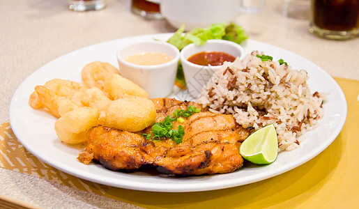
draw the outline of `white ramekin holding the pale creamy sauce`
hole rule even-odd
[[[158,65],[137,65],[125,60],[148,52],[166,54],[171,60]],[[117,52],[121,75],[144,88],[150,98],[164,98],[171,93],[179,58],[180,52],[174,45],[156,40],[131,43],[120,47]]]

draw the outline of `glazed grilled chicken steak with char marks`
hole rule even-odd
[[[181,102],[172,98],[156,98],[156,122],[172,116],[176,109],[187,109],[194,102]],[[204,111],[185,118],[182,123],[172,122],[174,129],[182,125],[185,130],[183,142],[176,144],[172,139],[145,139],[151,127],[142,132],[126,132],[114,128],[97,126],[88,132],[88,145],[79,160],[100,162],[107,169],[133,170],[143,164],[152,164],[160,173],[201,175],[229,173],[243,165],[238,153],[240,143],[249,131],[238,125],[233,116]]]

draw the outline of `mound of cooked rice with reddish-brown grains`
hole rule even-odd
[[[293,150],[323,117],[323,97],[310,92],[305,70],[261,61],[257,54],[263,53],[252,52],[224,63],[197,102],[215,113],[233,114],[243,127],[258,130],[273,123],[280,150]]]

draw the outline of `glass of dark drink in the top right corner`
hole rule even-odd
[[[359,0],[312,0],[310,32],[345,40],[359,34]]]

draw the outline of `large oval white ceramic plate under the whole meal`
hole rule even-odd
[[[293,65],[293,68],[305,69],[310,76],[308,82],[312,92],[330,93],[323,104],[325,116],[321,119],[319,127],[307,132],[307,139],[300,144],[300,148],[280,153],[277,160],[268,166],[245,167],[233,173],[220,175],[174,178],[142,172],[109,171],[100,164],[85,165],[76,159],[80,151],[78,148],[63,144],[56,137],[54,131],[56,118],[44,111],[32,109],[28,104],[29,95],[38,84],[43,85],[49,79],[54,78],[81,82],[80,72],[87,63],[106,61],[117,66],[116,51],[121,45],[153,38],[167,40],[170,36],[171,33],[163,33],[102,42],[61,56],[33,72],[17,88],[10,103],[10,125],[17,139],[43,162],[79,178],[127,189],[153,192],[195,192],[254,183],[289,171],[321,153],[342,130],[346,119],[346,100],[335,80],[317,65],[301,56],[254,40],[247,40],[243,44],[245,52],[258,49],[265,54],[270,54],[273,59],[284,59]],[[181,92],[177,92],[176,96],[182,100],[189,99],[188,95]]]

